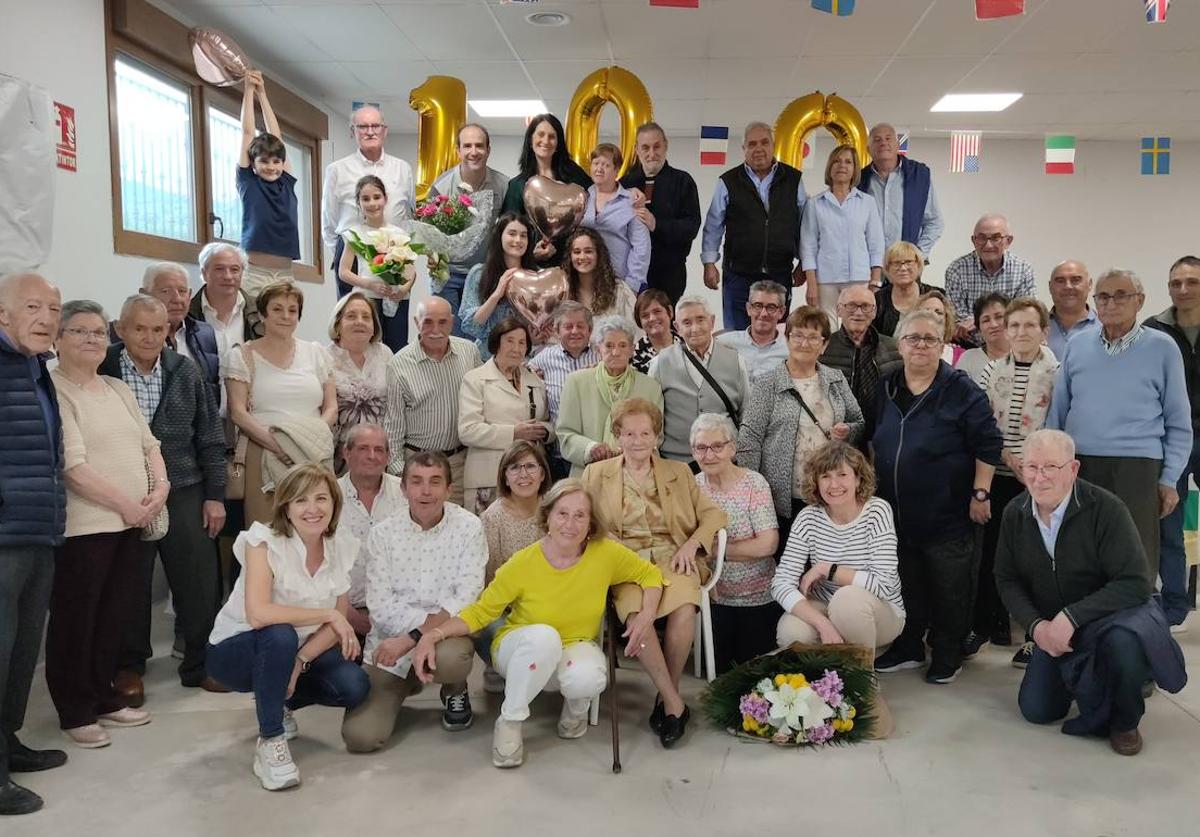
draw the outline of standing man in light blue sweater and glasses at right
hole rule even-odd
[[[1141,279],[1110,270],[1096,283],[1100,329],[1067,343],[1046,427],[1066,430],[1079,475],[1129,507],[1158,577],[1158,519],[1178,505],[1180,475],[1192,453],[1192,408],[1175,342],[1138,324]]]

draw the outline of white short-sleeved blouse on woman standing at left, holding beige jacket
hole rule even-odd
[[[250,384],[250,414],[264,424],[292,416],[320,417],[325,383],[334,374],[334,362],[325,348],[311,341],[295,341],[292,365],[280,368],[254,351],[253,374],[246,365],[245,344],[224,359],[222,378]]]

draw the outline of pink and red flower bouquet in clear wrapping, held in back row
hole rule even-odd
[[[494,201],[491,189],[474,193],[467,183],[458,183],[458,194],[418,201],[414,218],[404,222],[404,229],[431,253],[433,290],[442,290],[450,278],[451,261],[463,261],[479,249],[488,233],[480,219],[492,217]]]

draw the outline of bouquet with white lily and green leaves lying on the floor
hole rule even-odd
[[[875,699],[874,672],[839,646],[793,646],[726,672],[703,703],[730,733],[802,747],[871,737]]]

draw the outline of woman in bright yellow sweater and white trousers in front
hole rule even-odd
[[[622,634],[628,640],[626,656],[642,662],[677,711],[683,706],[654,633],[653,614],[662,595],[658,567],[606,537],[578,480],[554,484],[538,514],[545,537],[517,550],[497,570],[478,602],[421,637],[413,652],[418,676],[431,682],[440,640],[480,631],[511,608],[492,643],[492,664],[504,678],[504,704],[492,739],[497,767],[516,767],[524,760],[521,723],[552,679],[563,693],[559,737],[587,733],[590,701],[608,680],[595,638],[608,588],[614,584],[641,586],[647,602],[646,615],[631,619]]]

